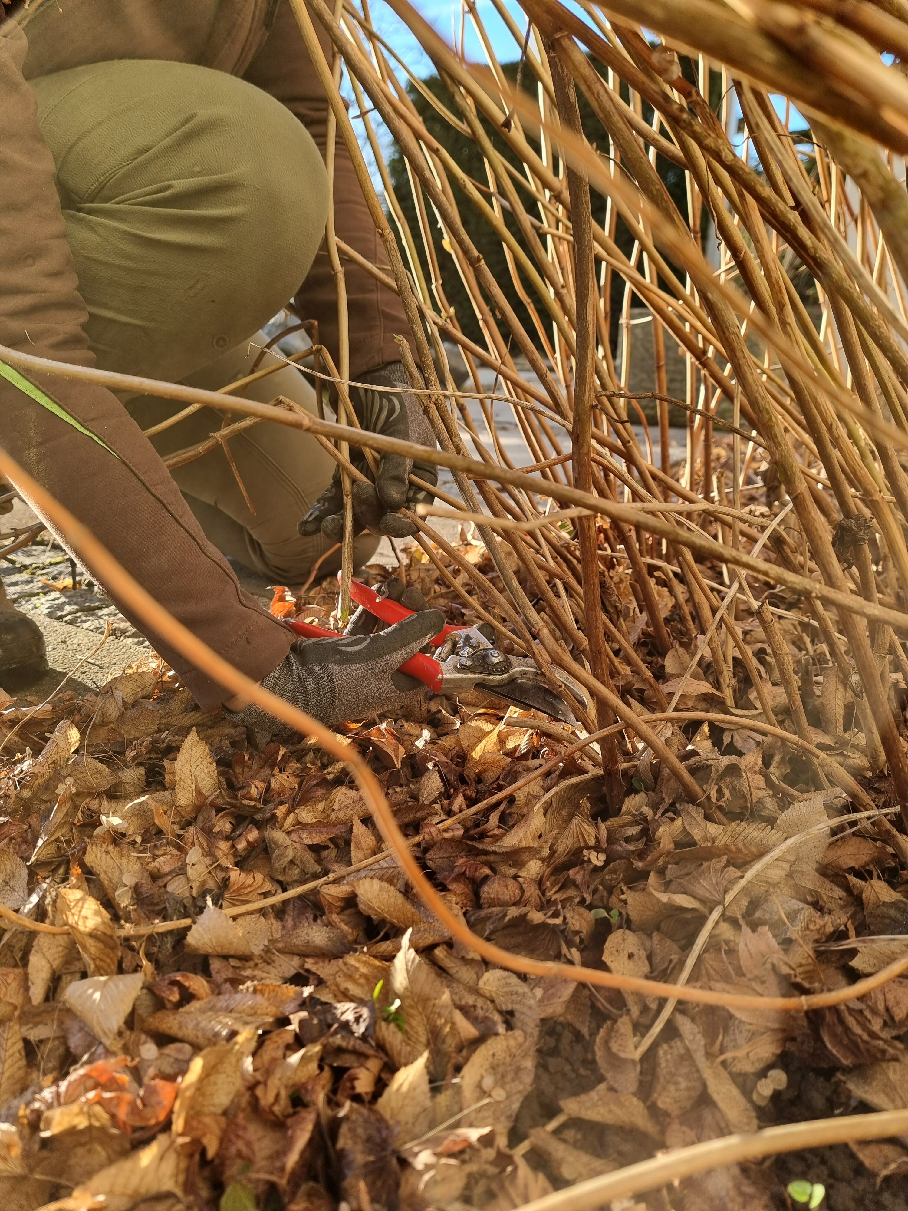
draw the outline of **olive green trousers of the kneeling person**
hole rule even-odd
[[[324,233],[327,177],[300,122],[260,88],[185,63],[97,63],[30,85],[97,365],[208,390],[248,374],[262,326],[298,292]],[[246,397],[314,409],[303,374],[272,354],[269,365]],[[144,430],[183,407],[122,398]],[[223,423],[205,408],[151,441],[167,459]],[[264,421],[171,474],[219,550],[298,584],[327,544],[297,523],[333,466],[312,437]],[[357,558],[375,545],[357,540]]]

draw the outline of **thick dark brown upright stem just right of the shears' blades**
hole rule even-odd
[[[550,53],[548,64],[552,84],[558,102],[562,121],[575,133],[581,133],[580,110],[574,92],[574,81],[562,63],[558,48]],[[596,361],[596,320],[598,293],[593,280],[593,241],[592,213],[590,210],[590,182],[585,173],[568,168],[568,191],[570,194],[571,219],[574,224],[574,289],[576,293],[576,354],[574,358],[574,418],[571,426],[571,450],[574,483],[581,492],[593,489],[592,467],[592,402],[593,371]],[[588,659],[593,673],[607,689],[613,690],[605,658],[605,629],[602,622],[603,610],[599,601],[599,549],[596,518],[585,513],[577,518],[580,539],[580,578],[584,590],[585,633],[590,645]],[[603,710],[600,702],[597,711],[599,727],[613,722],[611,713]],[[605,775],[605,796],[609,804],[617,810],[623,798],[621,776],[617,771],[617,744],[609,737],[602,745],[603,770]]]

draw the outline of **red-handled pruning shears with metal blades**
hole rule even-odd
[[[358,580],[351,582],[350,596],[357,606],[390,625],[402,622],[414,613],[390,597],[380,597],[374,589]],[[337,638],[335,631],[312,622],[298,619],[283,621],[308,639]],[[429,647],[436,649],[435,654],[430,656],[418,652],[401,665],[401,672],[424,682],[435,694],[456,695],[482,689],[505,702],[542,711],[561,723],[576,724],[568,701],[551,689],[535,662],[527,656],[510,656],[501,652],[484,630],[484,626],[443,626],[429,641]],[[563,670],[551,667],[568,694],[587,708],[588,699],[577,682]]]

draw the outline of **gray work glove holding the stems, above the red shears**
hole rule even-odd
[[[352,388],[350,391],[350,402],[363,429],[435,449],[432,427],[419,400],[409,390],[410,381],[401,362],[389,362],[370,371],[363,381],[372,384],[373,389]],[[381,390],[389,386],[406,390]],[[362,450],[351,449],[350,461],[358,471],[372,478],[372,471]],[[432,497],[423,488],[410,484],[410,471],[426,483],[438,482],[438,470],[433,463],[412,461],[401,454],[383,454],[375,482],[354,483],[356,533],[368,529],[373,534],[389,534],[391,538],[407,538],[416,533],[415,526],[406,517],[401,517],[397,510],[404,506],[413,510],[418,504],[430,501]],[[344,535],[344,497],[339,467],[335,467],[331,484],[299,523],[300,534],[317,534],[318,530],[332,543],[339,543]]]

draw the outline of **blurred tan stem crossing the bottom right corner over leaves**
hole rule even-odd
[[[886,1140],[903,1135],[907,1130],[908,1110],[880,1110],[791,1123],[754,1131],[752,1135],[720,1136],[689,1148],[661,1152],[650,1160],[627,1165],[602,1177],[576,1182],[567,1189],[523,1203],[517,1211],[596,1211],[619,1199],[657,1190],[662,1186],[672,1187],[685,1177],[705,1173],[711,1169],[774,1157],[782,1152],[800,1152],[804,1148],[826,1148],[858,1140]]]

